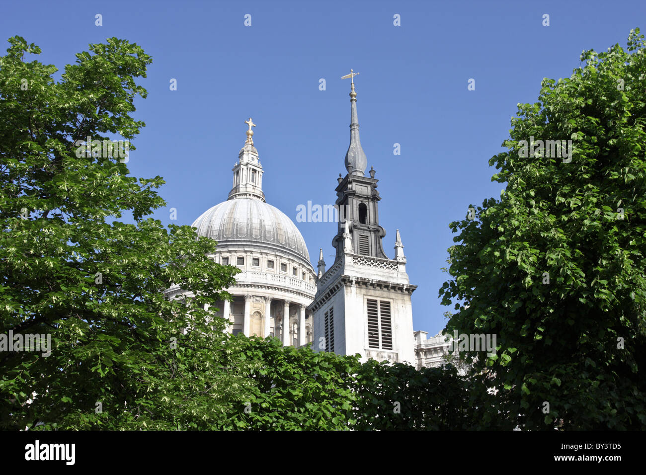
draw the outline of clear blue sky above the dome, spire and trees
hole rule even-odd
[[[294,221],[307,200],[333,203],[349,142],[349,80],[339,78],[359,71],[361,143],[380,180],[384,249],[393,257],[399,228],[418,286],[413,324],[434,334],[449,310],[437,299],[448,224],[499,197],[488,159],[502,151],[516,104],[536,101],[541,79],[570,76],[584,49],[625,46],[630,28],[646,28],[645,13],[643,0],[16,1],[3,3],[0,37],[25,37],[61,70],[112,36],[152,56],[140,81],[149,96],[136,102],[146,127],[128,165],[135,176],[165,178],[168,207],[154,216],[167,224],[170,207],[175,224],[191,224],[227,198],[249,116],[267,202]],[[318,248],[331,265],[336,225],[297,226],[313,265]]]

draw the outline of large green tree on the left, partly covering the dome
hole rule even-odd
[[[215,242],[144,218],[160,176],[134,178],[112,151],[79,142],[143,127],[131,114],[151,57],[116,38],[56,67],[9,39],[0,58],[0,332],[50,335],[51,354],[0,352],[0,427],[189,428],[226,419],[250,383],[223,368],[221,319],[205,305],[236,270]],[[134,149],[134,147],[131,147]],[[135,224],[112,222],[132,213]],[[172,284],[193,299],[167,301]],[[214,336],[216,335],[216,336]],[[13,346],[13,342],[10,342]],[[16,349],[14,347],[14,349]]]

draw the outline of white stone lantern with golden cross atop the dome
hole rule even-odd
[[[245,121],[249,125],[247,140],[238,154],[238,162],[233,166],[233,188],[229,191],[229,200],[235,198],[255,198],[265,201],[262,192],[262,165],[258,158],[258,151],[253,146],[253,130],[256,127],[251,117]]]

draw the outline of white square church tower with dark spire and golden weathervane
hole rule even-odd
[[[339,227],[332,240],[334,264],[325,271],[323,254],[318,261],[317,293],[310,304],[313,343],[318,351],[342,355],[360,354],[392,363],[415,364],[411,285],[399,229],[395,257],[384,253],[384,228],[379,226],[375,170],[364,176],[368,165],[359,140],[357,92],[354,76],[350,92],[350,144],[345,177],[339,174],[336,204]]]

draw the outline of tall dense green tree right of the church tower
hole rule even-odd
[[[475,372],[523,428],[646,426],[643,38],[636,28],[627,51],[585,51],[570,78],[544,79],[489,162],[501,198],[450,224],[446,330],[497,335]],[[571,156],[539,140],[572,140]]]

